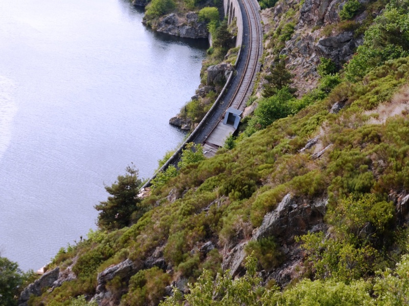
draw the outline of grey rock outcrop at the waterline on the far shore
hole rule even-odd
[[[143,21],[147,24],[147,21]],[[199,21],[195,12],[189,12],[186,15],[177,15],[171,13],[162,17],[153,28],[162,33],[186,38],[207,38],[209,31],[205,21]]]

